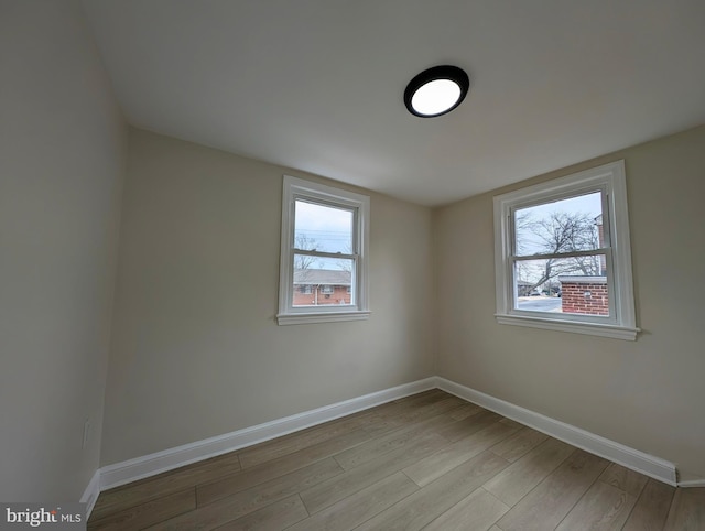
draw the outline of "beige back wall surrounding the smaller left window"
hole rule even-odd
[[[275,323],[284,173],[131,130],[104,465],[434,373],[424,207],[370,194],[369,321]]]

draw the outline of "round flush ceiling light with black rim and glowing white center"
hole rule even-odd
[[[423,71],[404,90],[404,105],[409,112],[433,118],[451,112],[467,95],[470,79],[462,68],[441,65]]]

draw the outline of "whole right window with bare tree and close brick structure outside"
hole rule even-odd
[[[623,161],[495,197],[500,324],[636,339]]]

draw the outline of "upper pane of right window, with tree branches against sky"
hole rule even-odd
[[[601,193],[544,203],[513,213],[517,256],[604,247]]]

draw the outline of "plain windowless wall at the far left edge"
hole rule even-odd
[[[77,500],[99,462],[127,128],[75,2],[3,1],[0,77],[0,500]]]

